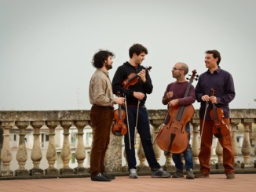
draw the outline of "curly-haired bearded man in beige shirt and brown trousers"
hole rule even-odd
[[[123,97],[113,97],[108,70],[112,69],[114,53],[100,50],[93,56],[97,70],[90,80],[89,98],[92,104],[90,120],[93,125],[93,144],[90,152],[90,176],[92,181],[111,181],[115,176],[104,172],[104,158],[108,149],[110,129],[114,118],[113,104],[123,104]]]

